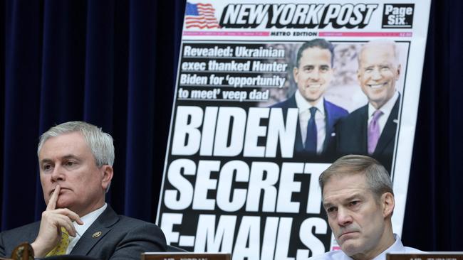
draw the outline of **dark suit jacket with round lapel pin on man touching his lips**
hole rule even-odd
[[[10,256],[21,242],[32,243],[40,222],[0,233],[0,255]],[[96,232],[100,236],[92,237]],[[70,254],[97,259],[140,259],[145,251],[166,251],[165,236],[155,224],[116,215],[108,205],[106,210],[82,234]]]

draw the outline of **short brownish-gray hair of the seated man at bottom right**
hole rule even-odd
[[[348,155],[338,158],[318,178],[321,194],[328,180],[334,176],[363,174],[367,180],[368,188],[379,199],[384,193],[391,193],[392,181],[389,173],[381,163],[368,156]]]

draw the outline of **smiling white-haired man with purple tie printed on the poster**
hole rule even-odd
[[[358,54],[357,77],[368,104],[336,125],[336,146],[341,155],[357,153],[378,159],[391,170],[400,94],[397,46],[392,40],[372,40]]]

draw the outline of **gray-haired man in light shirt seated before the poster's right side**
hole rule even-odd
[[[392,232],[394,192],[387,170],[378,161],[343,156],[318,181],[323,208],[341,250],[313,259],[385,260],[387,252],[421,252],[404,247]]]

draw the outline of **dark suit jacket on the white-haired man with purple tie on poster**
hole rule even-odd
[[[371,155],[380,161],[389,172],[394,153],[399,105],[400,95],[394,107],[392,107],[375,151]],[[336,146],[340,155],[368,155],[368,104],[338,121],[336,125]]]

